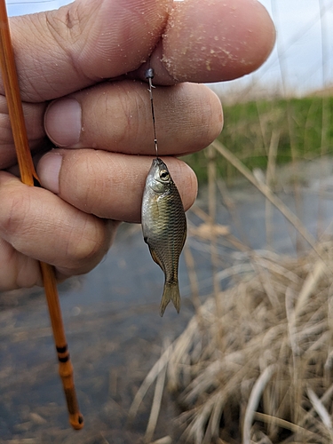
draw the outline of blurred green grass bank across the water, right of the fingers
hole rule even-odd
[[[270,99],[224,107],[225,124],[218,139],[250,170],[266,169],[274,131],[279,134],[276,163],[311,160],[333,153],[332,97]],[[199,182],[207,181],[208,159],[203,152],[187,155]],[[239,173],[217,155],[218,174],[231,182]]]

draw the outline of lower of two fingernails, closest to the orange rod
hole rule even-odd
[[[59,194],[59,172],[62,163],[62,155],[48,153],[44,155],[38,163],[37,174],[42,186]]]

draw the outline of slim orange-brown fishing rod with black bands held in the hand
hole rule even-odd
[[[28,186],[39,186],[38,177],[28,146],[28,134],[24,122],[20,88],[12,51],[12,40],[8,15],[4,0],[0,0],[0,66],[3,76],[4,93],[7,99],[8,113],[12,124],[12,135],[17,153],[21,181]],[[57,281],[53,266],[40,262],[44,289],[49,307],[54,342],[58,354],[59,375],[61,377],[69,423],[75,430],[83,428],[83,416],[80,413],[73,377],[73,366],[70,361]]]

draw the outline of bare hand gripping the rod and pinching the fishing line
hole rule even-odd
[[[0,290],[41,285],[37,260],[59,280],[86,273],[120,221],[139,222],[155,155],[147,67],[159,155],[171,155],[187,210],[196,178],[172,156],[206,147],[223,124],[219,99],[198,83],[254,71],[275,40],[257,0],[77,0],[12,18],[11,30],[43,188],[17,177],[0,79]]]

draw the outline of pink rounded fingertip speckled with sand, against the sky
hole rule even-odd
[[[257,69],[274,42],[273,21],[257,0],[184,0],[170,13],[162,61],[178,82],[232,80]]]

